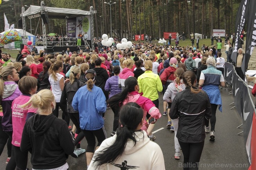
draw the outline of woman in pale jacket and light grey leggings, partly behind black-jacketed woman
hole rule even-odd
[[[182,90],[185,90],[186,86],[185,86],[185,84],[183,84],[183,80],[182,80],[183,74],[184,74],[183,68],[178,68],[175,71],[175,73],[174,73],[175,80],[171,84],[169,84],[169,86],[167,87],[167,89],[164,93],[164,97],[163,97],[164,101],[171,103],[177,93],[179,93]],[[168,116],[169,116],[169,114],[168,114]],[[178,139],[176,138],[176,134],[177,134],[177,130],[178,130],[178,124],[179,124],[179,118],[171,119],[171,120],[172,120],[172,123],[173,123],[174,133],[175,133],[175,136],[174,136],[174,144],[175,144],[174,158],[175,159],[180,159],[181,146],[179,144]]]

